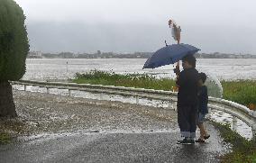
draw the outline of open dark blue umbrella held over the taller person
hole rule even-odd
[[[157,50],[144,64],[143,68],[158,68],[174,64],[186,55],[194,55],[199,49],[192,45],[180,43],[168,45]]]

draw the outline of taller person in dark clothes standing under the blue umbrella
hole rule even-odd
[[[187,55],[182,59],[183,70],[179,73],[176,84],[178,86],[178,126],[183,140],[178,144],[195,143],[197,131],[197,90],[198,71],[197,59]]]

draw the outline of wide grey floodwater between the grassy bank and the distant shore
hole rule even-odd
[[[74,77],[77,72],[92,69],[118,74],[146,73],[157,77],[175,77],[173,65],[142,69],[145,61],[146,59],[27,59],[23,79],[67,79]],[[197,59],[197,69],[219,80],[256,79],[256,59]]]

